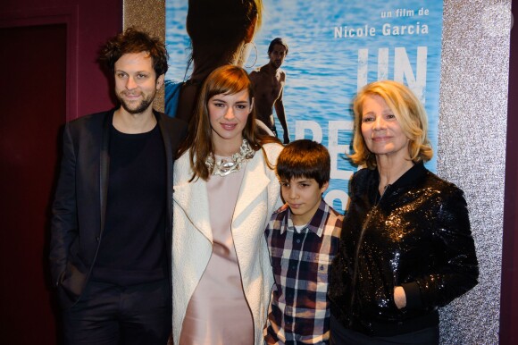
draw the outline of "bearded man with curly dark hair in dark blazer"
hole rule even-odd
[[[156,112],[168,54],[126,29],[99,60],[120,106],[65,125],[50,263],[67,344],[165,344],[171,334],[172,165],[187,125]]]

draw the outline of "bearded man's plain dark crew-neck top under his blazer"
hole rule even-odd
[[[124,285],[162,279],[166,165],[160,130],[111,130],[106,225],[92,279]]]

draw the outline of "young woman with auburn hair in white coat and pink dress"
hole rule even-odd
[[[273,283],[263,233],[281,205],[273,168],[282,146],[257,134],[238,66],[207,77],[193,121],[174,164],[173,340],[262,344]]]

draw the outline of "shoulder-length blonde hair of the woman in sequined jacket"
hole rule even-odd
[[[349,157],[358,165],[376,167],[376,156],[365,145],[362,135],[363,102],[366,97],[380,96],[387,103],[397,122],[410,139],[408,154],[414,163],[428,162],[433,156],[428,139],[428,117],[424,106],[414,93],[405,85],[393,80],[374,81],[363,87],[355,97],[355,134],[353,139],[354,154]]]

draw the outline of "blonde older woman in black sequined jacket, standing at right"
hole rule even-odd
[[[355,173],[331,265],[331,344],[438,344],[439,312],[479,269],[464,193],[430,173],[412,91],[373,82],[355,98]]]

